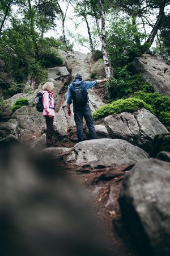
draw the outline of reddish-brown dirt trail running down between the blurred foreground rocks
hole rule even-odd
[[[114,256],[139,256],[133,245],[127,245],[124,239],[118,236],[112,222],[117,209],[118,191],[126,167],[127,165],[106,168],[97,170],[97,172],[72,170],[69,171],[69,175],[78,181],[92,200],[94,213],[97,221],[105,230],[112,254]]]

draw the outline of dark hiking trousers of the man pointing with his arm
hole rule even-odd
[[[86,120],[86,125],[88,127],[90,138],[91,139],[97,139],[95,127],[94,127],[94,121],[91,114],[91,109],[89,106],[89,103],[87,103],[84,106],[73,106],[74,111],[74,121],[76,124],[76,134],[78,137],[78,141],[84,141],[84,132],[83,132],[83,117]]]

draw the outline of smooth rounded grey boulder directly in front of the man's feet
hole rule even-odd
[[[147,158],[147,153],[129,142],[121,139],[93,139],[77,143],[66,162],[81,167],[104,168],[136,163],[143,158]]]

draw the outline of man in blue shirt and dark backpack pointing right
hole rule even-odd
[[[100,82],[106,82],[107,79],[91,82],[82,81],[82,75],[80,73],[76,73],[74,78],[74,82],[69,85],[67,90],[67,113],[71,115],[70,105],[73,100],[74,121],[76,124],[78,141],[84,141],[83,117],[86,120],[91,139],[97,139],[91,109],[88,102],[87,90],[97,84],[100,84]]]

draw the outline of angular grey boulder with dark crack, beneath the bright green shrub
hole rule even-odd
[[[156,134],[167,133],[168,130],[150,111],[142,108],[137,112],[123,112],[104,118],[111,138],[125,139],[130,143],[150,152]]]

